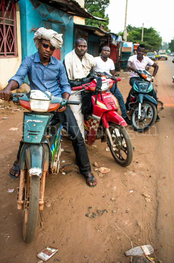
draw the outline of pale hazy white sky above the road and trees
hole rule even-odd
[[[165,4],[165,5],[164,5]],[[124,30],[126,0],[110,0],[106,14],[112,33]],[[174,0],[128,0],[127,21],[135,27],[153,27],[160,32],[162,41],[171,42],[174,37]]]

